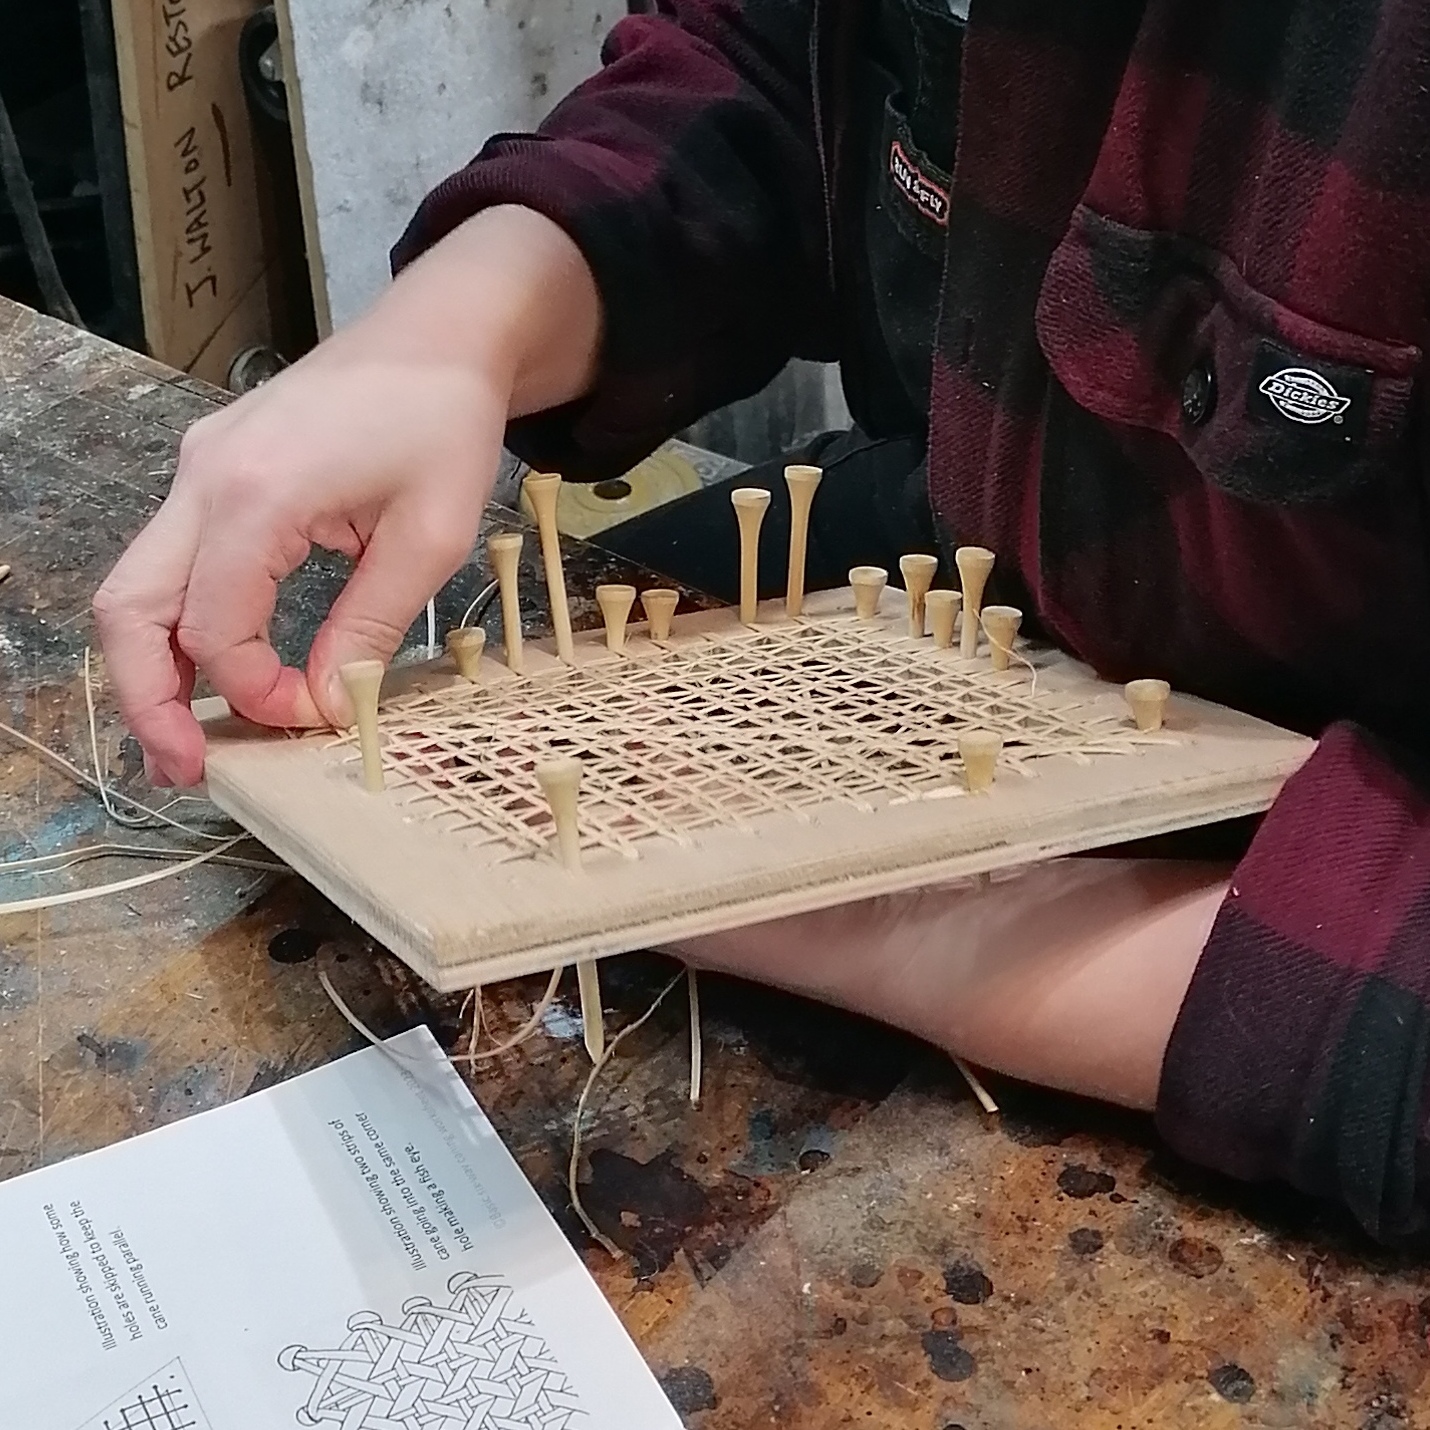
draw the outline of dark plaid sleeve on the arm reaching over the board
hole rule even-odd
[[[513,426],[513,449],[619,476],[791,356],[834,356],[808,0],[664,0],[539,134],[502,134],[422,204],[402,266],[472,213],[519,203],[581,246],[603,302],[599,380]]]

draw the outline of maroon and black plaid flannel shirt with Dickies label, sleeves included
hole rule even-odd
[[[859,353],[859,6],[658,0],[538,136],[423,204],[561,223],[601,376],[512,443],[626,469],[792,356]],[[1173,1034],[1168,1141],[1430,1230],[1430,666],[1419,372],[1430,7],[974,0],[930,402],[950,539],[1113,679],[1320,736],[1237,869]],[[867,282],[867,277],[864,279]]]

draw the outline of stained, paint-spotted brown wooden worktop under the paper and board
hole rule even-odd
[[[220,400],[0,299],[0,718],[82,765],[90,593],[162,498],[184,426]],[[285,592],[289,654],[340,569],[319,561]],[[573,591],[621,575],[572,551]],[[443,622],[483,576],[458,578]],[[100,706],[134,782],[103,689]],[[0,736],[0,857],[116,835],[134,838]],[[9,878],[0,898],[34,888]],[[425,1021],[463,1045],[459,1001],[296,878],[210,865],[0,919],[0,1177],[350,1051],[320,967],[379,1031]],[[609,965],[612,1025],[668,972]],[[499,1035],[541,984],[492,990]],[[994,1083],[990,1124],[938,1055],[859,1020],[721,980],[705,1002],[699,1110],[678,1000],[596,1100],[586,1198],[628,1263],[586,1241],[565,1198],[585,1077],[571,1002],[472,1083],[691,1426],[1430,1426],[1430,1274],[1336,1216],[1201,1177],[1141,1118]]]

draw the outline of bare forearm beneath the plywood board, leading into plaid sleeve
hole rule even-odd
[[[1228,869],[1057,859],[679,944],[679,957],[869,1014],[982,1067],[1124,1107],[1163,1058]]]

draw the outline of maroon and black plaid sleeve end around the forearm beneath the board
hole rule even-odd
[[[1173,1030],[1157,1123],[1191,1161],[1430,1231],[1430,799],[1410,756],[1326,732],[1237,868]]]

